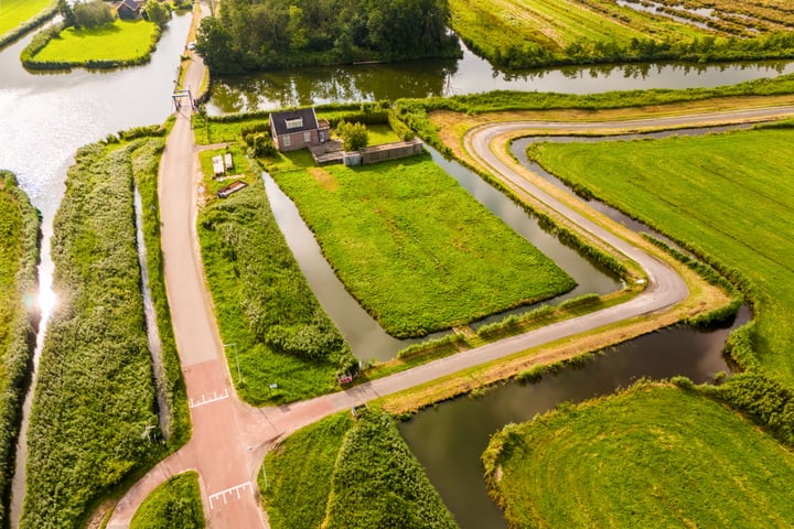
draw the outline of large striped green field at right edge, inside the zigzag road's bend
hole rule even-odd
[[[794,384],[794,128],[546,143],[554,174],[736,270],[753,287],[761,365]]]

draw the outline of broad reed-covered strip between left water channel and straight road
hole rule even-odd
[[[137,136],[137,134],[132,134]],[[28,432],[28,490],[20,527],[79,527],[189,435],[164,290],[152,289],[163,338],[174,432],[157,427],[136,249],[132,182],[157,174],[162,139],[93,144],[76,155],[54,222],[53,313]],[[143,186],[142,186],[143,187]],[[154,184],[149,181],[151,191]],[[144,193],[143,210],[157,204]],[[151,240],[154,216],[146,220]],[[159,249],[159,246],[157,247]],[[159,253],[150,248],[149,255]],[[150,266],[152,260],[150,258]],[[155,266],[151,281],[161,278]],[[174,379],[173,377],[176,377]],[[176,401],[176,403],[174,403]],[[182,410],[180,411],[180,407]]]

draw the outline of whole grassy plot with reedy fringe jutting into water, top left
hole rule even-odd
[[[115,68],[142,64],[160,40],[153,22],[116,20],[95,29],[53,26],[37,34],[22,51],[21,60],[32,69],[65,69],[74,66]]]

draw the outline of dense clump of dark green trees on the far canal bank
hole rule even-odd
[[[447,0],[226,0],[198,29],[219,74],[460,54]]]

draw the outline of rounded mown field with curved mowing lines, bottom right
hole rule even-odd
[[[641,385],[495,434],[483,455],[514,528],[788,527],[794,454],[738,413]]]

